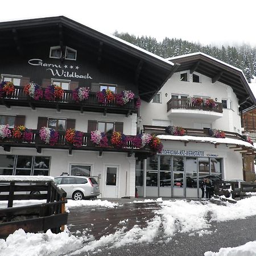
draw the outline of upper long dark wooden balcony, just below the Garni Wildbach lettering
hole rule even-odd
[[[43,88],[44,90],[45,88]],[[24,93],[23,87],[15,86],[15,92],[5,98],[0,98],[0,105],[5,105],[7,108],[11,106],[28,106],[32,109],[35,108],[49,108],[67,110],[78,110],[81,113],[86,112],[100,112],[104,113],[115,113],[115,114],[129,114],[137,113],[136,102],[138,98],[134,98],[131,102],[119,106],[116,101],[109,101],[106,105],[102,105],[98,102],[96,93],[90,92],[87,100],[76,102],[72,99],[72,90],[64,90],[63,98],[58,101],[47,101],[47,100],[34,100]]]

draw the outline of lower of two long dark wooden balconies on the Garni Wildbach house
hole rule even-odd
[[[11,129],[10,129],[11,130]],[[72,154],[72,150],[90,150],[90,151],[99,151],[100,155],[104,151],[112,151],[112,152],[127,152],[128,156],[131,156],[135,153],[136,157],[147,157],[153,154],[154,152],[150,150],[150,148],[137,148],[133,145],[133,138],[132,135],[127,135],[130,140],[126,143],[126,146],[123,148],[108,146],[108,147],[100,147],[90,141],[90,133],[84,133],[82,137],[82,146],[75,147],[72,144],[69,144],[65,140],[65,131],[59,132],[59,138],[57,143],[54,146],[44,143],[39,137],[39,130],[31,130],[32,131],[32,141],[31,142],[24,142],[22,139],[16,139],[13,137],[5,138],[4,140],[0,139],[0,146],[3,147],[5,151],[10,151],[11,147],[30,147],[36,148],[37,152],[41,152],[42,148],[58,148],[58,149],[67,149],[69,154]],[[110,144],[110,138],[112,134],[108,134],[108,141]]]

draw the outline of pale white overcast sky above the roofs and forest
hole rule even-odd
[[[64,15],[105,34],[256,46],[255,7],[254,0],[7,0],[0,21]]]

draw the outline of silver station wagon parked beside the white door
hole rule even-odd
[[[100,189],[94,177],[58,176],[54,178],[54,181],[67,193],[68,199],[91,199],[100,195]]]

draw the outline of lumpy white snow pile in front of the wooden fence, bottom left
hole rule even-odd
[[[51,230],[46,233],[25,233],[23,229],[16,230],[6,238],[0,240],[0,254],[8,256],[47,256],[60,255],[76,250],[82,246],[82,238],[69,234],[68,230],[53,234]]]

